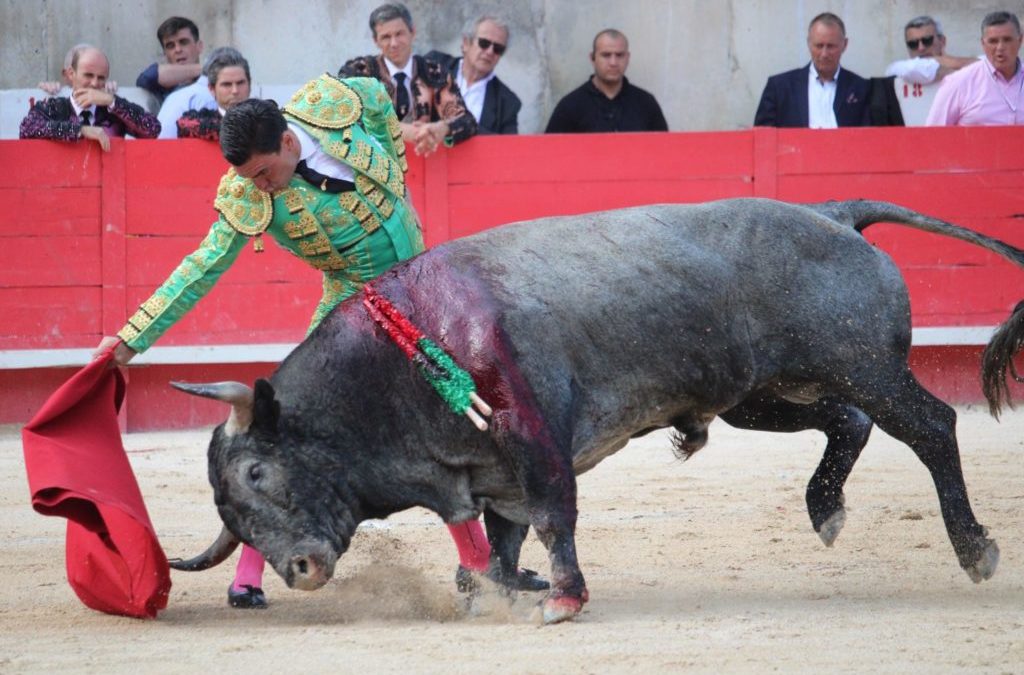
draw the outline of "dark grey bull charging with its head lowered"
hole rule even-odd
[[[818,429],[806,492],[830,546],[843,486],[872,425],[931,473],[961,566],[975,582],[998,548],[971,509],[954,411],[907,366],[910,306],[893,261],[861,231],[901,223],[1024,251],[881,202],[739,199],[545,218],[438,246],[374,282],[472,375],[494,409],[480,433],[444,404],[368,315],[342,303],[268,380],[181,384],[230,403],[209,447],[224,530],[202,568],[239,540],[289,587],[331,579],[356,525],[412,506],[447,522],[483,514],[503,576],[532,526],[549,552],[546,623],[588,599],[577,559],[575,476],[653,429],[689,456],[716,417],[746,429]],[[1012,405],[1024,302],[984,354],[991,411]]]

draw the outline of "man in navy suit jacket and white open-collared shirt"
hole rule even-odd
[[[830,12],[815,16],[807,31],[811,62],[768,78],[754,126],[866,126],[870,82],[840,68],[847,43],[843,19]]]

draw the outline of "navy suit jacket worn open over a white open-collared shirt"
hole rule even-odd
[[[807,127],[807,78],[811,65],[768,78],[754,116],[756,127]],[[870,83],[853,71],[840,68],[836,82],[836,122],[841,127],[868,124]]]

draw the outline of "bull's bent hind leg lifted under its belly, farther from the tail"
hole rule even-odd
[[[817,429],[827,437],[824,455],[807,483],[807,512],[814,531],[831,546],[846,522],[843,486],[867,444],[871,420],[860,410],[836,398],[794,404],[759,391],[721,415],[734,427],[761,431]]]

